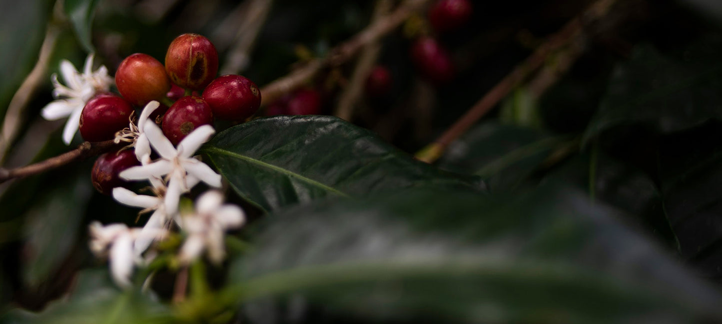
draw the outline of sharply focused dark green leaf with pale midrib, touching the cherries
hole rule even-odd
[[[241,197],[274,210],[327,196],[414,186],[479,186],[414,160],[372,132],[327,116],[253,120],[201,148]]]

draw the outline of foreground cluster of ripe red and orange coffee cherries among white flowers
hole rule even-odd
[[[160,107],[149,120],[160,125],[173,145],[201,125],[215,119],[243,122],[261,105],[261,91],[243,76],[217,76],[217,50],[206,37],[183,34],[168,46],[165,65],[150,55],[136,53],[125,58],[116,71],[120,95],[97,94],[82,110],[80,135],[98,142],[116,139],[133,122],[136,107],[152,101]],[[131,125],[132,127],[132,125]],[[139,164],[131,150],[105,153],[95,162],[92,182],[110,194],[124,182],[118,174]]]

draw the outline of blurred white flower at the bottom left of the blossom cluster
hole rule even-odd
[[[143,262],[133,253],[134,241],[151,235],[157,237],[165,231],[155,230],[152,233],[141,233],[140,228],[128,228],[125,224],[102,225],[100,222],[90,224],[90,251],[96,256],[108,255],[110,274],[113,281],[120,287],[131,287],[131,275],[135,264]],[[109,251],[108,251],[109,250]],[[108,251],[108,253],[106,253]]]

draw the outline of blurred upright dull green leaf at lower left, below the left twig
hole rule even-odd
[[[22,273],[31,287],[56,271],[78,241],[85,208],[93,192],[86,172],[36,197],[34,206],[25,213],[23,230],[27,251]]]

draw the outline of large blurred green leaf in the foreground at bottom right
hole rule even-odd
[[[318,202],[267,217],[231,281],[253,323],[292,316],[264,312],[273,297],[297,323],[303,305],[356,322],[719,319],[716,292],[614,217],[552,186]]]

